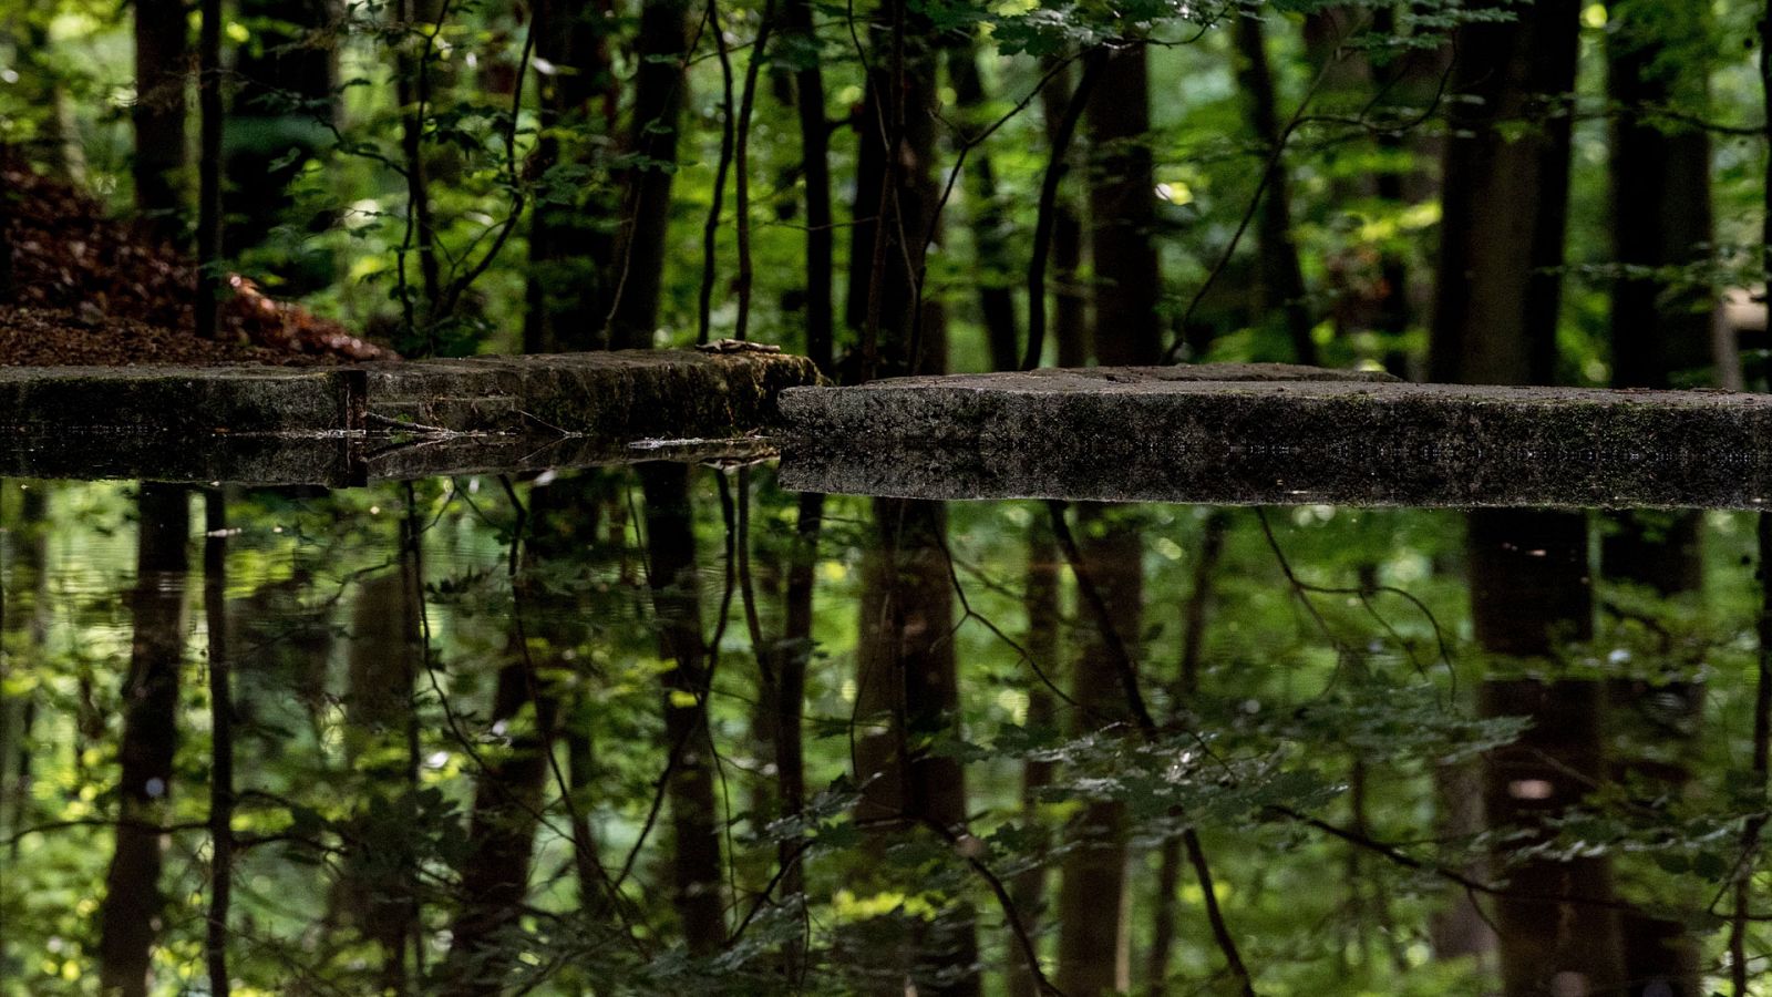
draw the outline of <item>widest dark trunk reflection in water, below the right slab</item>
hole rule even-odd
[[[1478,644],[1513,658],[1554,658],[1559,642],[1593,635],[1588,522],[1581,513],[1481,511],[1469,518],[1471,608]],[[1565,813],[1605,779],[1600,683],[1488,679],[1485,717],[1529,717],[1512,745],[1488,752],[1483,804],[1488,825],[1529,832],[1497,839],[1496,899],[1501,972],[1508,995],[1609,993],[1625,979],[1618,914],[1609,907],[1607,859],[1517,860],[1542,837],[1543,818]]]

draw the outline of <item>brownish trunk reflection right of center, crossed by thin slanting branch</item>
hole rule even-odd
[[[1136,523],[1099,506],[1079,506],[1077,518],[1095,520],[1083,529],[1083,564],[1113,614],[1115,632],[1138,660],[1145,580]],[[1086,633],[1072,681],[1077,734],[1104,717],[1127,718],[1125,688],[1106,637]],[[1058,891],[1058,988],[1065,993],[1099,997],[1127,988],[1125,836],[1125,805],[1118,802],[1092,802],[1072,828],[1077,850],[1065,859]]]

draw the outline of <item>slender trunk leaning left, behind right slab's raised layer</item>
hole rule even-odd
[[[1260,18],[1237,18],[1237,80],[1249,96],[1249,122],[1272,156],[1286,137],[1279,131],[1274,75],[1267,66]],[[1299,247],[1292,239],[1292,176],[1286,172],[1285,158],[1274,161],[1267,190],[1262,193],[1256,254],[1262,266],[1262,303],[1269,310],[1283,312],[1294,358],[1299,364],[1317,364],[1317,344],[1311,341],[1315,323],[1304,296],[1304,268],[1299,266]]]

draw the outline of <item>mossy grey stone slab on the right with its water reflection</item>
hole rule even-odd
[[[789,390],[781,483],[929,498],[1212,504],[1772,500],[1772,396],[1171,371]]]

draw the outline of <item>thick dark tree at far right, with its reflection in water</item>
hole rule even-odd
[[[1609,14],[1613,239],[1618,264],[1627,268],[1613,286],[1613,383],[1710,383],[1717,380],[1714,364],[1735,362],[1714,357],[1710,289],[1689,277],[1667,286],[1634,275],[1701,268],[1710,252],[1710,137],[1690,124],[1655,119],[1667,106],[1706,106],[1705,11],[1625,0]],[[1701,529],[1703,514],[1696,511],[1618,514],[1602,546],[1605,575],[1664,596],[1696,596],[1703,587]],[[1666,667],[1678,672],[1680,662]],[[1616,765],[1620,779],[1653,786],[1648,805],[1678,798],[1692,775],[1703,687],[1620,679],[1611,683],[1611,697],[1623,727],[1616,743],[1628,745]],[[1621,926],[1632,986],[1659,983],[1676,997],[1701,993],[1698,951],[1682,922],[1630,908]]]

